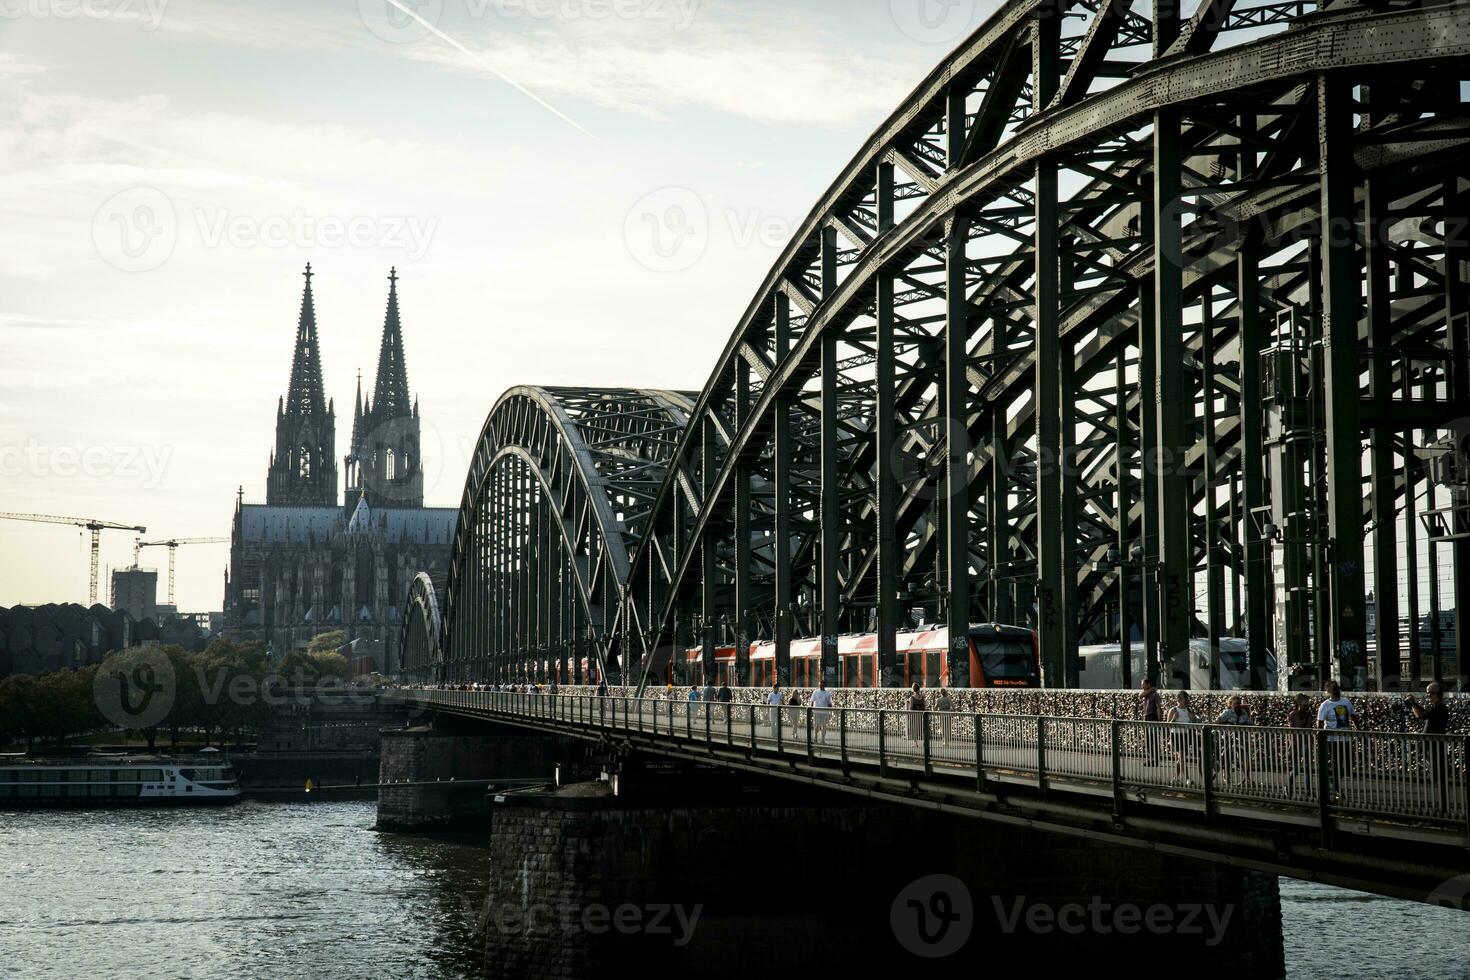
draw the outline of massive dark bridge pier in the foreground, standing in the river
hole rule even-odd
[[[492,807],[487,977],[1283,974],[1270,876],[729,773],[625,770],[619,790]]]

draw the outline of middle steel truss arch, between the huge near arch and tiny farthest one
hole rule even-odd
[[[441,649],[428,680],[607,669],[601,642],[628,580],[692,395],[651,389],[507,391],[476,442],[454,532]],[[422,605],[422,604],[420,604]],[[409,635],[420,610],[410,605]],[[407,646],[406,646],[407,649]],[[588,663],[584,663],[588,661]]]

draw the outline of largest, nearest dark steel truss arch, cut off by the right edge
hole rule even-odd
[[[1047,24],[1054,4],[1005,4],[869,140],[773,266],[692,406],[679,478],[632,555],[616,626],[629,661],[647,669],[660,648],[703,636],[711,663],[716,642],[744,649],[757,635],[778,639],[779,658],[782,623],[797,616],[835,649],[835,633],[867,623],[891,636],[903,598],[953,627],[976,611],[1030,620],[1048,680],[1075,682],[1079,636],[1105,635],[1110,602],[1125,623],[1139,602],[1125,579],[1147,573],[1182,595],[1202,574],[1213,597],[1222,566],[1232,589],[1255,589],[1232,630],[1250,619],[1258,657],[1264,592],[1247,569],[1264,560],[1260,529],[1241,508],[1223,516],[1229,495],[1260,502],[1267,485],[1251,361],[1295,329],[1277,314],[1324,336],[1333,306],[1344,354],[1319,383],[1330,375],[1351,435],[1311,492],[1330,497],[1335,547],[1361,545],[1364,478],[1348,463],[1366,425],[1360,375],[1427,375],[1407,361],[1360,370],[1372,344],[1342,323],[1372,297],[1344,269],[1367,263],[1367,248],[1319,231],[1351,220],[1372,185],[1388,197],[1380,209],[1430,220],[1464,200],[1446,166],[1467,147],[1464,113],[1429,93],[1470,57],[1467,4],[1301,24],[1241,4],[1183,25],[1132,13],[1107,24],[1116,6],[1073,6],[1080,18],[1064,26]],[[1129,60],[1155,28],[1179,38],[1155,51],[1169,57]],[[1226,46],[1238,28],[1261,35]],[[1392,104],[1344,125],[1379,100]],[[1436,182],[1448,188],[1438,197]],[[1432,273],[1433,256],[1408,254],[1419,232],[1395,234],[1394,262]],[[1452,310],[1463,264],[1441,264]],[[1383,336],[1446,354],[1455,344],[1408,291],[1376,316]],[[1457,414],[1438,404],[1414,417],[1435,428]],[[806,439],[803,419],[816,419]],[[1180,460],[1157,488],[1142,447]],[[1048,454],[1075,460],[1076,479],[1039,467]],[[928,472],[897,473],[900,461]],[[1120,504],[1105,500],[1108,473]],[[761,501],[753,480],[778,500]],[[1119,547],[1126,558],[1129,544],[1144,545],[1139,569],[1089,567]],[[1319,577],[1317,591],[1361,602],[1361,577]],[[785,610],[764,629],[757,594]],[[1150,644],[1167,673],[1197,624],[1180,604],[1154,613]],[[1360,670],[1351,619],[1333,626],[1333,657]]]

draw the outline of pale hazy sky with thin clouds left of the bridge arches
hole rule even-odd
[[[0,511],[228,535],[235,488],[265,498],[307,262],[338,455],[398,267],[429,504],[509,385],[698,389],[791,229],[995,6],[401,3],[435,29],[392,0],[0,0]],[[219,608],[226,560],[179,550],[184,608]],[[0,605],[85,589],[84,535],[0,522]]]

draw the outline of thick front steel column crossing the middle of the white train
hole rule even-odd
[[[1161,3],[1164,0],[1160,0]],[[1154,386],[1158,413],[1160,658],[1169,686],[1189,686],[1189,623],[1194,605],[1189,541],[1191,488],[1185,473],[1194,397],[1183,325],[1183,207],[1179,110],[1154,113]]]

